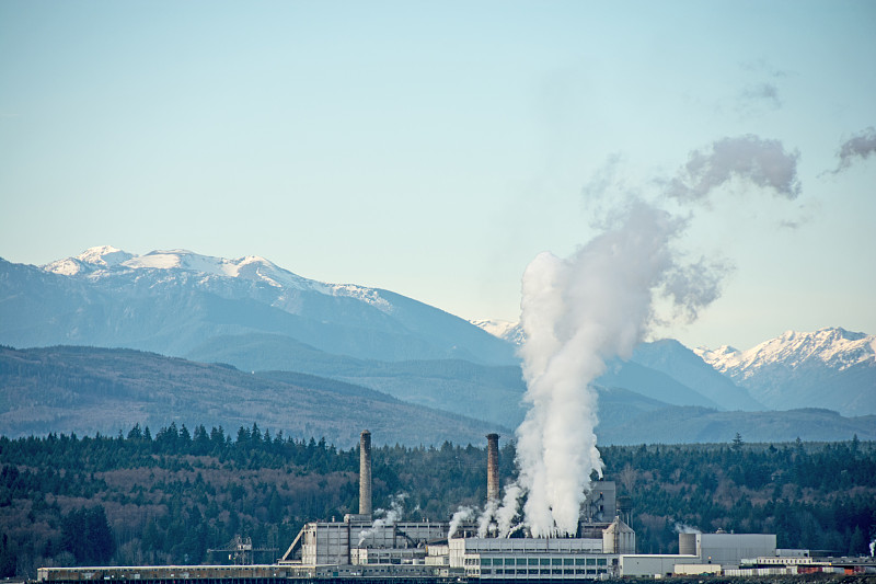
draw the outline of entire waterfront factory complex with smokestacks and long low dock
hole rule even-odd
[[[487,504],[498,504],[498,435],[487,435]],[[556,582],[625,576],[876,573],[864,561],[834,563],[807,550],[776,549],[775,535],[679,534],[678,554],[637,554],[630,509],[612,481],[591,484],[575,537],[496,537],[473,522],[374,518],[371,435],[361,433],[359,513],[304,525],[274,564],[41,568],[37,580],[139,581],[147,584],[284,584],[290,581]],[[621,504],[619,504],[619,500]]]

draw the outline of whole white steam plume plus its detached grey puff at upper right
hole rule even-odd
[[[799,192],[796,160],[776,140],[725,138],[694,151],[665,194],[702,201],[736,179],[793,199]],[[590,477],[601,477],[603,467],[591,382],[607,360],[629,358],[659,321],[657,298],[667,300],[675,317],[694,319],[721,295],[726,267],[691,262],[676,249],[687,226],[656,204],[630,199],[572,256],[545,252],[527,267],[520,356],[529,410],[516,433],[519,476],[506,488],[502,506],[488,506],[481,517],[482,536],[507,537],[521,526],[534,537],[577,531]],[[515,525],[523,500],[522,522]]]

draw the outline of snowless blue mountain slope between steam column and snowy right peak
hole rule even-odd
[[[717,373],[693,351],[672,339],[639,344],[633,351],[631,360],[684,383],[717,403],[722,410],[758,411],[765,409],[748,391]],[[685,405],[695,404],[685,403]]]

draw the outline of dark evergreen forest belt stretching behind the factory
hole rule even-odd
[[[374,448],[376,507],[447,520],[485,499],[485,451]],[[876,443],[613,446],[606,478],[633,505],[639,552],[677,551],[682,525],[775,533],[780,547],[867,551],[876,535]],[[504,444],[500,473],[514,474]],[[228,562],[240,535],[283,554],[301,525],[358,509],[357,449],[254,424],[171,425],[154,435],[0,438],[0,576],[38,565]],[[397,497],[397,495],[406,495]],[[83,537],[84,535],[84,537]]]

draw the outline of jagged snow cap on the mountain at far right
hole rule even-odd
[[[796,369],[820,363],[841,371],[858,363],[876,363],[876,335],[868,336],[841,328],[815,332],[785,331],[747,351],[722,346],[716,350],[700,347],[694,352],[721,373],[744,376],[771,364]]]

